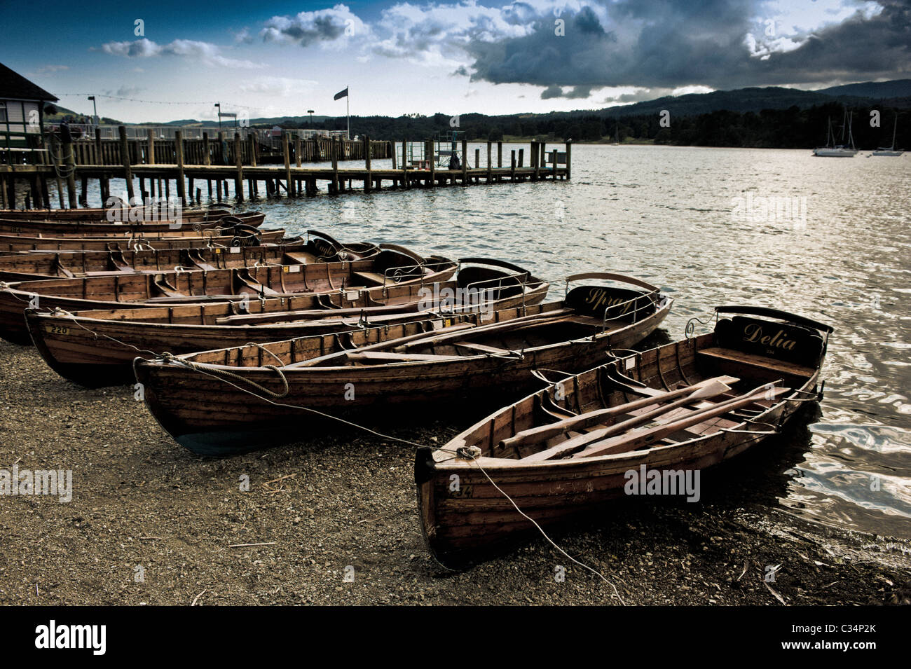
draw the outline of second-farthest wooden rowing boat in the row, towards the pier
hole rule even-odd
[[[200,221],[159,220],[155,222],[84,222],[84,221],[44,221],[16,220],[0,218],[0,235],[5,237],[53,237],[53,238],[99,238],[125,237],[132,235],[167,235],[171,237],[196,236],[207,229],[233,229],[238,226],[258,228],[266,218],[258,211],[219,216]],[[222,233],[224,234],[224,233]]]

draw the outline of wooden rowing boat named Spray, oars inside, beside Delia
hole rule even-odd
[[[296,407],[388,419],[414,416],[418,405],[458,411],[470,397],[476,409],[539,384],[539,369],[588,369],[611,346],[644,339],[670,310],[672,300],[644,281],[601,273],[568,281],[579,278],[628,288],[580,286],[556,302],[463,315],[448,324],[434,319],[137,359],[137,380],[159,424],[206,454],[293,439],[302,421],[310,431],[317,417]]]

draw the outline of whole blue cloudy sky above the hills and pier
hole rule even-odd
[[[40,16],[40,20],[36,20]],[[911,77],[911,0],[0,0],[0,62],[136,123],[544,113]]]

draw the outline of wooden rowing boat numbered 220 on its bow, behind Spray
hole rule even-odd
[[[400,324],[441,314],[540,304],[548,284],[527,269],[486,258],[459,261],[454,279],[430,286],[394,285],[384,293],[334,294],[196,304],[157,309],[107,309],[72,314],[26,309],[36,349],[67,380],[97,388],[133,380],[138,355],[225,349],[249,342],[291,340],[327,332]],[[142,351],[142,352],[138,352]]]

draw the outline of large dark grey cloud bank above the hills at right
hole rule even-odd
[[[911,69],[906,0],[881,0],[878,15],[858,12],[767,57],[752,55],[745,42],[750,33],[765,39],[755,23],[763,15],[759,0],[597,2],[597,13],[584,7],[560,15],[565,36],[555,35],[553,15],[538,15],[528,35],[470,41],[473,78],[547,86],[547,98],[574,96],[577,87],[775,86],[899,78]],[[563,94],[559,86],[574,88]]]

